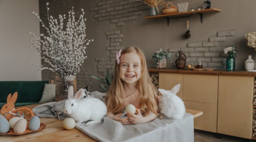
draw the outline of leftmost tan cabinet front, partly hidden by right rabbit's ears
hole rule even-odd
[[[180,84],[180,90],[177,93],[182,99],[183,90],[183,74],[178,73],[159,73],[159,88],[164,90],[171,90],[175,85]]]

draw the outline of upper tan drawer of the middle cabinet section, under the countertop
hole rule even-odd
[[[217,104],[218,76],[183,74],[183,100]]]

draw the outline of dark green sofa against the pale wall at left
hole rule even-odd
[[[44,84],[49,81],[0,81],[0,109],[6,104],[7,96],[18,92],[15,107],[39,103]]]

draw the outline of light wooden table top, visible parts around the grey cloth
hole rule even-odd
[[[34,108],[39,104],[28,105],[24,107]],[[19,107],[17,107],[19,108]],[[1,111],[0,111],[1,112]],[[202,111],[187,109],[187,113],[194,115],[195,117],[201,116],[203,114]],[[91,137],[85,135],[82,131],[74,128],[72,130],[66,130],[62,127],[62,120],[58,120],[57,118],[40,118],[42,123],[46,124],[46,127],[41,131],[37,131],[34,133],[28,133],[25,135],[12,136],[12,135],[1,135],[0,142],[9,142],[9,141],[17,141],[17,142],[28,142],[28,141],[86,141],[86,142],[96,142],[96,140]]]

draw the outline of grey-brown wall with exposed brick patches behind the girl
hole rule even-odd
[[[188,10],[192,7],[202,7],[204,2],[204,0],[187,1],[189,2]],[[247,47],[246,40],[244,39],[244,34],[255,31],[256,19],[254,17],[256,17],[256,13],[254,12],[254,7],[256,1],[254,0],[243,2],[239,0],[212,0],[212,8],[218,8],[222,11],[204,14],[202,24],[199,15],[188,18],[189,30],[191,32],[189,39],[183,38],[187,18],[173,19],[170,21],[169,26],[167,26],[166,19],[164,18],[143,19],[144,16],[149,15],[149,9],[146,5],[135,0],[40,0],[41,17],[46,16],[46,2],[50,3],[50,15],[53,16],[54,14],[64,13],[67,15],[68,10],[72,6],[74,6],[75,12],[80,11],[81,8],[85,11],[87,38],[94,39],[94,42],[87,47],[86,56],[88,58],[84,61],[83,71],[77,75],[78,88],[87,84],[90,85],[90,91],[101,91],[100,82],[90,78],[88,74],[103,78],[106,75],[105,70],[107,68],[109,68],[110,72],[113,72],[111,64],[114,63],[114,53],[120,47],[125,48],[130,45],[138,46],[144,50],[148,66],[152,68],[155,66],[151,55],[158,48],[173,52],[173,62],[177,58],[175,51],[182,49],[188,55],[188,60],[198,61],[200,59],[203,60],[204,67],[215,69],[222,68],[222,59],[225,58],[223,49],[230,45],[230,43],[236,45],[239,50],[236,57],[236,70],[244,70],[244,61],[248,58],[248,55],[252,55],[253,59],[255,59],[254,49]],[[177,3],[183,1],[172,0],[171,2],[177,5]],[[121,41],[115,41],[119,37],[113,36],[114,40],[110,36],[108,38],[109,33],[113,31],[114,33],[116,31],[117,35],[121,36]],[[223,32],[224,34],[225,32],[228,33],[224,36],[225,38],[221,36]],[[41,33],[44,33],[42,27]],[[210,43],[213,46],[206,45],[209,44],[210,38],[218,36],[220,41],[216,41],[215,45],[213,43]],[[216,40],[218,38],[213,39]],[[112,42],[111,44],[111,40],[114,43]],[[203,48],[197,44],[196,46],[189,46],[197,42],[201,43]],[[99,66],[102,64],[109,64],[110,66]],[[168,62],[167,67],[174,68],[173,63]],[[54,73],[42,71],[43,79],[53,79],[54,77]]]

